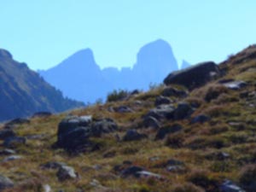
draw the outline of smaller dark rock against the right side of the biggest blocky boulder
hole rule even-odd
[[[92,136],[101,137],[103,133],[110,133],[118,130],[118,125],[113,119],[99,119],[92,125]]]

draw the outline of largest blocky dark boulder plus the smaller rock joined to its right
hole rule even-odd
[[[65,148],[72,153],[86,151],[94,146],[90,137],[101,137],[103,133],[116,131],[118,126],[112,119],[98,119],[91,116],[68,116],[58,126],[57,142],[54,147]]]

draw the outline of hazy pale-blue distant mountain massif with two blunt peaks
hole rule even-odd
[[[98,98],[105,99],[113,90],[148,90],[149,84],[160,84],[168,73],[177,69],[172,47],[158,39],[138,51],[133,67],[101,69],[92,50],[83,49],[56,67],[38,73],[63,91],[64,96],[95,102]]]

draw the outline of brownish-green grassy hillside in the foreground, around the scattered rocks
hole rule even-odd
[[[95,119],[111,118],[119,125],[117,132],[92,138],[98,147],[90,152],[68,154],[64,149],[52,148],[57,140],[57,126],[67,113],[34,118],[29,124],[16,125],[16,134],[26,137],[27,141],[15,147],[23,159],[1,163],[1,174],[15,182],[15,188],[6,191],[46,191],[45,184],[49,184],[52,191],[62,189],[65,192],[215,192],[221,191],[226,179],[246,188],[256,177],[255,55],[256,47],[251,46],[219,65],[223,77],[191,90],[186,97],[169,97],[174,106],[178,102],[188,102],[195,111],[185,119],[161,119],[158,129],[145,128],[143,116],[154,108],[155,98],[166,90],[166,86],[125,101],[73,111],[74,115],[92,115]],[[232,90],[219,84],[228,79],[242,80],[247,85]],[[129,107],[132,112],[112,110],[119,106]],[[192,124],[191,119],[199,114],[210,119]],[[183,127],[181,131],[155,140],[157,131],[176,124]],[[148,138],[131,142],[120,140],[129,129],[136,129]],[[1,156],[0,160],[5,157]],[[49,161],[73,166],[79,177],[59,181],[56,170],[40,168]],[[161,177],[121,177],[119,169],[131,165],[142,166]]]

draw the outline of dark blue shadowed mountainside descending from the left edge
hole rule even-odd
[[[15,61],[5,49],[0,49],[0,77],[0,121],[83,106],[82,102],[64,98],[60,90],[46,83],[26,63]]]

